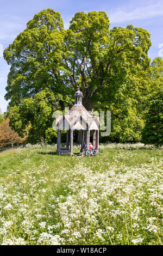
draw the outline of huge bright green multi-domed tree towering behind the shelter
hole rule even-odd
[[[150,34],[132,25],[109,27],[104,11],[79,12],[66,30],[58,12],[36,14],[4,51],[11,65],[5,95],[11,125],[14,109],[18,115],[36,94],[52,93],[54,101],[47,100],[54,111],[71,106],[79,86],[87,110],[111,111],[111,139],[139,139],[143,102],[151,87]]]

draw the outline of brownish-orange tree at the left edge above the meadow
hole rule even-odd
[[[0,125],[0,148],[10,146],[14,144],[22,144],[26,141],[26,137],[21,138],[18,134],[9,126],[9,119],[5,119]]]

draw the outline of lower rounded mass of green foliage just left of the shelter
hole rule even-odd
[[[17,131],[21,137],[28,128],[28,140],[30,142],[39,142],[41,138],[46,139],[48,132],[51,137],[56,137],[56,131],[52,127],[52,114],[55,111],[55,96],[48,89],[36,94],[34,97],[22,100],[20,106],[9,108],[8,117],[10,125]]]

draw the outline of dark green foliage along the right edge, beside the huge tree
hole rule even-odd
[[[145,127],[142,141],[146,144],[163,144],[163,60],[155,58],[152,62],[152,90],[146,104]]]

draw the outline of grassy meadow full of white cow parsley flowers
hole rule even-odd
[[[0,153],[0,244],[161,245],[162,149],[100,149],[95,157],[58,156],[55,145]]]

